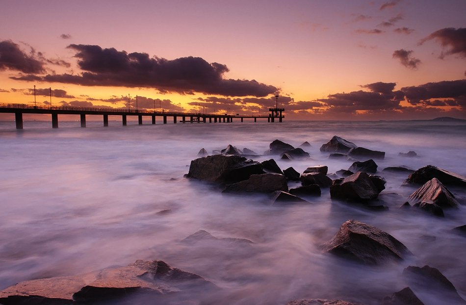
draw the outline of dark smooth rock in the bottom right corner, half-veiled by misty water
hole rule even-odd
[[[431,299],[431,304],[466,304],[455,286],[437,268],[408,266],[403,270],[403,277],[416,291],[423,290],[431,294],[431,298],[437,298]]]

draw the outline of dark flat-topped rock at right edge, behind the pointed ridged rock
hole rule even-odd
[[[433,165],[427,165],[411,174],[405,183],[424,184],[432,178],[437,178],[443,185],[466,187],[466,177],[451,173]]]

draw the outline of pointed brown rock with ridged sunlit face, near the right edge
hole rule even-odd
[[[414,202],[433,202],[440,207],[458,207],[455,196],[439,181],[432,178],[410,195],[409,200]]]

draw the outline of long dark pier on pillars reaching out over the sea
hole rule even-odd
[[[108,126],[108,116],[117,115],[122,117],[123,126],[127,125],[128,116],[137,116],[138,124],[142,125],[143,117],[152,117],[152,124],[155,124],[155,118],[161,118],[163,124],[167,124],[168,117],[173,119],[173,124],[177,124],[180,119],[180,123],[233,123],[235,121],[243,122],[244,119],[254,119],[257,122],[258,119],[267,119],[267,122],[274,123],[278,119],[278,122],[282,122],[285,117],[282,111],[284,108],[269,108],[269,115],[230,115],[230,114],[207,114],[207,113],[186,113],[186,112],[175,112],[175,111],[155,111],[147,109],[122,109],[122,108],[96,108],[96,107],[72,107],[72,106],[48,106],[48,105],[34,105],[34,104],[16,104],[16,103],[0,103],[0,113],[14,113],[16,128],[23,129],[23,114],[24,113],[35,113],[35,114],[51,114],[52,115],[52,127],[58,128],[58,115],[62,114],[78,114],[80,115],[81,127],[86,127],[86,116],[88,115],[102,115],[104,126]],[[159,119],[160,120],[160,119]]]

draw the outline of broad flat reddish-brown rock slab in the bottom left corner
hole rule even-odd
[[[164,296],[183,291],[186,285],[195,289],[216,287],[194,273],[170,267],[161,260],[137,260],[126,267],[96,273],[20,282],[0,291],[0,303],[96,304],[137,294],[162,300]]]

